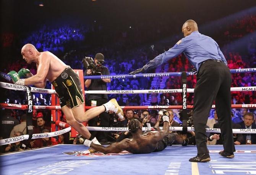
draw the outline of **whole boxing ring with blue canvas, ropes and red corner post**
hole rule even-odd
[[[232,73],[256,72],[256,68],[231,69]],[[80,71],[81,72],[81,71]],[[86,79],[119,79],[139,77],[164,77],[180,76],[181,72],[136,74],[136,75],[99,75],[86,76]],[[187,72],[187,75],[193,75]],[[81,77],[80,77],[81,78]],[[83,83],[82,83],[83,84]],[[83,86],[83,85],[82,85]],[[11,90],[25,90],[24,86],[0,82],[0,87]],[[187,89],[193,93],[194,89]],[[256,87],[235,87],[231,91],[256,91]],[[76,134],[65,122],[58,120],[57,115],[60,106],[56,103],[57,96],[53,89],[31,88],[31,92],[52,94],[53,106],[33,106],[36,110],[52,110],[52,132],[44,134],[33,134],[34,138],[56,137],[62,133]],[[182,89],[169,90],[107,90],[107,91],[84,91],[85,93],[182,93]],[[28,105],[0,103],[0,108],[28,109]],[[86,109],[92,108],[86,106]],[[187,109],[193,106],[187,105]],[[215,108],[215,105],[212,106]],[[232,108],[256,108],[256,104],[233,104]],[[122,109],[183,109],[178,106],[122,106]],[[126,131],[128,128],[118,127],[87,127],[88,130],[98,131]],[[62,130],[61,130],[62,129]],[[148,130],[150,127],[144,127]],[[182,127],[170,127],[170,130],[181,131]],[[187,127],[193,131],[193,127]],[[206,132],[220,133],[220,129],[206,128]],[[256,133],[256,129],[233,129],[233,133]],[[0,145],[15,143],[16,139],[27,140],[29,135],[18,136],[0,140]],[[55,138],[56,140],[56,138]],[[54,142],[53,142],[54,144]],[[165,174],[165,175],[198,175],[198,174],[256,174],[256,145],[236,145],[237,152],[234,159],[221,157],[218,153],[223,150],[222,145],[208,145],[211,161],[207,163],[188,162],[195,156],[196,146],[167,146],[164,151],[150,154],[130,154],[122,152],[119,154],[90,154],[84,145],[57,144],[45,148],[6,153],[0,155],[0,174]],[[15,167],[15,169],[14,169]]]

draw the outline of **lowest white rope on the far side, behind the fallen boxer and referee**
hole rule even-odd
[[[128,131],[127,127],[86,127],[89,131]],[[153,127],[143,127],[142,131],[151,130]],[[163,127],[159,127],[160,130]],[[205,128],[206,132],[221,133],[219,128]],[[182,131],[182,127],[169,127],[170,131]],[[188,127],[188,132],[194,131],[194,127]],[[256,133],[256,129],[233,129],[233,133]]]

